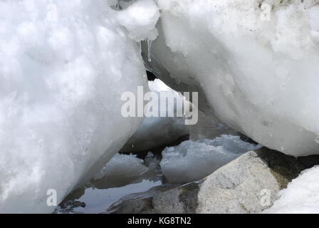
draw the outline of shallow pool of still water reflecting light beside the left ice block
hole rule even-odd
[[[162,185],[163,176],[158,158],[145,161],[147,172],[138,177],[110,178],[91,180],[85,187],[68,195],[54,213],[98,214],[122,197],[138,192],[146,192],[152,187]]]

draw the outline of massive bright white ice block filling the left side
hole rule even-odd
[[[0,212],[51,212],[140,124],[123,92],[146,86],[135,41],[103,0],[0,1]],[[144,77],[143,77],[144,76]]]

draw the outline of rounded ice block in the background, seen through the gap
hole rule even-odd
[[[176,91],[166,86],[159,79],[155,81],[149,81],[149,88],[152,92],[157,93],[160,100],[160,93],[168,93],[173,95],[179,100],[183,100],[183,96]],[[176,100],[175,100],[176,101]],[[153,107],[156,108],[155,112],[160,115],[161,105],[159,101],[152,100],[154,102]],[[168,102],[165,107],[168,107]],[[165,146],[171,142],[176,141],[182,135],[186,135],[189,130],[184,125],[183,118],[177,118],[176,105],[171,105],[170,108],[174,108],[175,117],[147,117],[143,120],[140,128],[135,134],[128,140],[125,147],[122,148],[122,152],[138,152],[142,150],[150,150],[155,147]],[[169,112],[169,110],[167,110]]]

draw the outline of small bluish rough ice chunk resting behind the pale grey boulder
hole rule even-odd
[[[169,182],[192,182],[210,175],[244,152],[260,147],[234,135],[221,135],[214,140],[188,140],[165,148],[160,166]]]

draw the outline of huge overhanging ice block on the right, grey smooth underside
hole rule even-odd
[[[318,154],[318,1],[262,3],[158,0],[160,36],[151,61],[143,45],[145,61],[175,90],[199,91],[206,113],[253,140]]]

